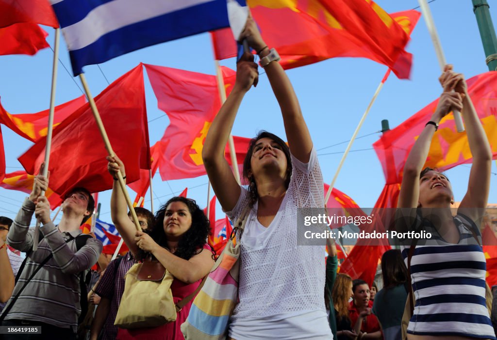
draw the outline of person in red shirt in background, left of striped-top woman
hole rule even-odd
[[[380,323],[376,316],[371,314],[373,301],[370,301],[369,285],[363,280],[354,280],[352,283],[353,300],[348,309],[354,331],[363,339],[383,339]]]

